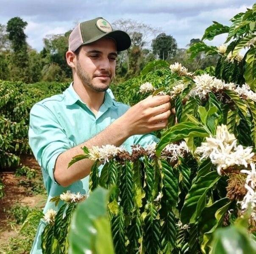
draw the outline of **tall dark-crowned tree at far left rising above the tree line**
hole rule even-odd
[[[11,55],[10,76],[12,80],[30,82],[27,36],[24,33],[27,22],[14,17],[7,22],[6,31],[13,50]]]

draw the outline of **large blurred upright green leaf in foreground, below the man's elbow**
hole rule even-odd
[[[109,191],[99,187],[77,205],[68,234],[70,253],[114,254],[108,200]]]

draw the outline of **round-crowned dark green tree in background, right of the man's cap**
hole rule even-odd
[[[153,39],[151,47],[153,53],[159,55],[159,58],[165,60],[173,57],[177,50],[177,42],[171,35],[160,33]]]

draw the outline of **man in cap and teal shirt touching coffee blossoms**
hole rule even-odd
[[[82,154],[81,147],[113,144],[131,151],[132,144],[145,146],[157,141],[150,132],[167,126],[170,97],[148,97],[133,107],[114,101],[105,92],[115,75],[117,51],[131,45],[127,33],[112,30],[99,17],[80,23],[70,34],[67,64],[72,68],[73,82],[63,94],[54,95],[33,105],[30,113],[29,144],[42,168],[48,199],[70,190],[82,194],[89,189],[89,159],[74,163],[72,157]],[[42,253],[40,221],[31,253]]]

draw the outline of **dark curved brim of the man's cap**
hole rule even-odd
[[[117,51],[127,50],[131,46],[130,36],[128,35],[128,33],[125,33],[124,31],[121,31],[121,30],[114,30],[109,33],[104,33],[100,36],[94,37],[93,39],[91,39],[89,41],[85,41],[81,45],[86,45],[86,44],[92,43],[92,42],[97,41],[103,37],[109,37],[109,38],[114,39],[117,42]]]

